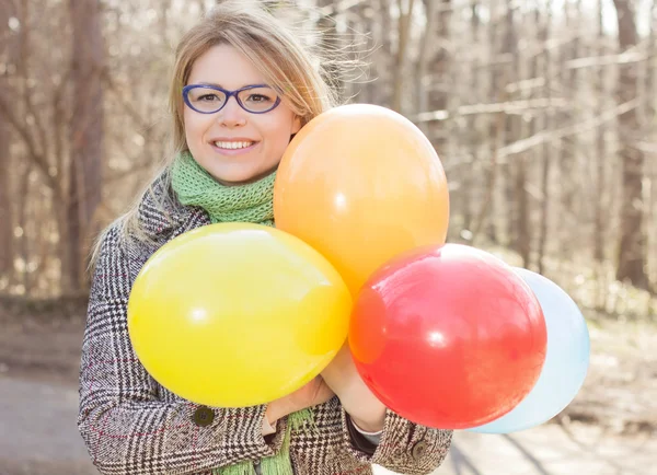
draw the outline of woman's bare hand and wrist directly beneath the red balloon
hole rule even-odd
[[[387,408],[360,378],[348,344],[342,347],[324,369],[322,378],[360,429],[368,432],[383,429]]]

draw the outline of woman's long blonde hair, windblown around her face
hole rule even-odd
[[[171,167],[180,152],[187,150],[181,92],[189,78],[194,61],[212,46],[231,45],[250,59],[265,80],[283,92],[284,100],[300,118],[301,126],[338,104],[338,94],[330,86],[327,71],[328,68],[335,70],[335,56],[328,60],[328,51],[322,49],[324,46],[321,42],[314,47],[304,45],[298,33],[253,2],[229,0],[212,8],[181,38],[169,91],[171,150],[154,176],[163,177],[166,189],[170,185],[169,174],[163,172]],[[172,199],[169,194],[153,193],[154,181],[151,181],[128,211],[99,236],[92,252],[91,266],[95,264],[105,233],[113,225],[120,227],[123,240],[149,241],[139,220],[141,200],[151,194],[153,201],[165,213]]]

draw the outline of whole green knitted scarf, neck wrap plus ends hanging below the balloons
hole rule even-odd
[[[173,190],[183,205],[204,208],[212,223],[253,222],[274,225],[274,181],[276,173],[246,185],[226,186],[201,167],[189,152],[176,157],[171,173]],[[313,413],[302,409],[287,418],[283,444],[278,453],[261,461],[263,475],[293,475],[290,461],[292,431],[313,428]],[[214,475],[255,475],[252,461],[215,468]]]

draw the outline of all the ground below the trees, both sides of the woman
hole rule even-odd
[[[657,323],[587,317],[591,366],[570,406],[523,432],[457,432],[436,475],[654,473]],[[0,475],[97,473],[76,428],[83,327],[84,299],[0,300]]]

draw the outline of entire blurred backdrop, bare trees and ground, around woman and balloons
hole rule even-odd
[[[95,473],[74,428],[89,251],[166,153],[173,48],[214,3],[0,0],[1,473]],[[438,473],[647,474],[657,0],[258,3],[359,61],[345,77],[326,65],[345,102],[427,135],[451,242],[545,275],[587,317],[589,374],[557,424],[460,432]]]

